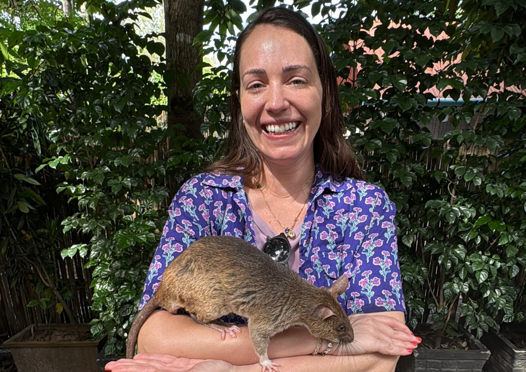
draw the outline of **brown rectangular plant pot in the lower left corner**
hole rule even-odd
[[[47,324],[39,324],[47,328]],[[100,340],[87,341],[26,341],[32,326],[5,341],[11,350],[18,372],[99,372],[95,362]],[[54,329],[72,329],[72,324],[53,324]],[[89,331],[89,324],[80,324],[80,331]]]

